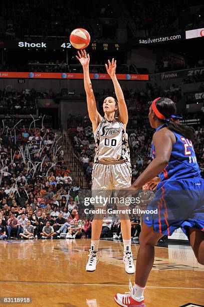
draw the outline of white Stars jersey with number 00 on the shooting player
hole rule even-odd
[[[96,142],[94,162],[108,164],[130,162],[127,137],[124,125],[117,117],[113,121],[108,121],[103,117],[94,132]]]

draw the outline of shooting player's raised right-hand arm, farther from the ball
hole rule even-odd
[[[108,60],[108,65],[105,64],[107,73],[111,77],[115,89],[116,98],[118,100],[118,109],[119,109],[119,119],[123,124],[127,124],[128,122],[128,112],[127,112],[127,106],[125,103],[125,98],[121,89],[121,86],[117,80],[115,69],[116,69],[116,60],[112,59],[112,62]]]

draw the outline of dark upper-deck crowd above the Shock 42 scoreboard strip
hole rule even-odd
[[[91,10],[90,10],[91,8]],[[46,12],[46,14],[44,14]],[[65,13],[66,12],[66,13]],[[15,0],[3,2],[1,5],[1,16],[3,17],[0,29],[1,39],[17,40],[28,38],[29,41],[41,36],[43,40],[55,40],[60,37],[69,37],[71,31],[77,27],[86,29],[93,37],[100,37],[100,20],[97,23],[87,21],[97,17],[110,17],[113,14],[110,3],[100,4],[91,0],[81,3],[80,6],[74,0],[64,2],[63,0],[35,0],[25,2]]]

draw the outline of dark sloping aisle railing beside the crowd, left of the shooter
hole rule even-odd
[[[68,162],[72,166],[72,171],[76,174],[79,186],[83,189],[83,186],[84,186],[83,185],[83,176],[82,176],[82,173],[79,169],[79,165],[78,165],[79,160],[78,160],[77,156],[73,153],[72,147],[67,141],[67,136],[63,133],[62,130],[61,130],[61,133],[62,133],[62,138],[63,138],[63,145],[64,145],[64,149],[65,149],[65,154],[67,154],[67,157],[68,157]]]

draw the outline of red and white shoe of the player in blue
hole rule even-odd
[[[145,307],[144,297],[140,297],[139,300],[135,300],[135,298],[132,297],[132,295],[134,295],[134,288],[132,287],[131,281],[129,282],[129,289],[130,292],[128,292],[127,294],[115,294],[115,302],[119,306],[123,307]]]

